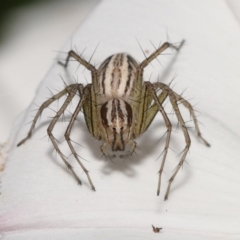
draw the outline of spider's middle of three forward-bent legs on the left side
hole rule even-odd
[[[65,100],[64,104],[62,105],[62,107],[57,111],[56,116],[53,118],[52,122],[50,123],[48,129],[47,129],[47,133],[48,136],[53,144],[53,147],[55,148],[55,150],[57,151],[57,153],[59,154],[59,156],[61,157],[61,159],[63,160],[63,162],[65,163],[65,165],[67,166],[67,168],[71,171],[71,173],[73,174],[74,178],[77,180],[78,184],[82,184],[81,180],[79,179],[79,177],[76,175],[76,173],[74,172],[72,166],[67,162],[65,156],[63,155],[63,153],[60,151],[56,140],[52,134],[53,128],[55,126],[55,124],[57,123],[59,117],[64,113],[64,111],[66,110],[66,108],[68,107],[69,103],[72,101],[73,97],[76,95],[76,92],[78,91],[78,88],[75,87],[74,89],[71,90],[71,92],[69,92],[69,95],[67,97],[67,99]]]

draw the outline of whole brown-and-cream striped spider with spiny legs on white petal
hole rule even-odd
[[[91,72],[92,83],[87,84],[86,86],[81,83],[71,84],[45,101],[37,111],[27,136],[20,141],[17,146],[22,145],[31,137],[33,129],[42,111],[54,101],[66,95],[66,100],[48,126],[47,133],[54,149],[60,155],[61,159],[71,171],[77,182],[81,184],[81,180],[74,172],[72,166],[68,163],[66,157],[60,151],[52,134],[53,128],[60,116],[64,113],[74,96],[79,95],[80,100],[71,117],[64,136],[72,154],[86,174],[92,190],[95,191],[89,172],[80,161],[70,139],[74,122],[80,111],[83,110],[89,132],[93,135],[93,137],[103,142],[100,149],[103,155],[108,159],[112,159],[116,157],[116,155],[119,155],[120,158],[127,158],[132,155],[137,145],[135,139],[148,129],[156,114],[160,112],[164,119],[167,131],[163,159],[158,171],[159,177],[157,195],[159,195],[161,176],[172,132],[172,124],[163,107],[163,103],[168,97],[177,116],[178,122],[180,123],[186,143],[180,162],[168,182],[167,191],[164,197],[165,200],[168,199],[171,184],[179,169],[183,165],[191,145],[187,127],[178,107],[179,103],[189,110],[190,115],[193,118],[197,136],[206,146],[210,145],[201,135],[197,118],[191,104],[164,83],[151,83],[149,81],[143,81],[143,71],[151,61],[153,61],[167,48],[179,51],[183,44],[184,40],[178,47],[169,42],[165,42],[149,57],[146,57],[140,64],[138,64],[133,57],[126,53],[114,54],[108,57],[98,69],[96,69],[91,63],[87,62],[81,55],[78,55],[75,51],[69,51],[66,62],[59,63],[66,68],[69,59],[74,58]],[[157,94],[157,91],[159,90],[161,90],[161,93]]]

